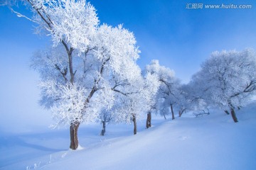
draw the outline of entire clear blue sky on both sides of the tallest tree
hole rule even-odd
[[[160,64],[174,69],[176,77],[184,83],[215,50],[243,50],[246,47],[256,50],[255,0],[90,2],[97,9],[101,23],[123,24],[134,33],[142,51],[138,61],[142,68],[157,59]],[[203,4],[203,8],[191,8],[193,4]],[[209,9],[206,8],[208,4],[249,4],[252,8]],[[31,15],[22,6],[18,10]],[[33,52],[47,45],[50,45],[49,38],[35,35],[33,23],[0,6],[0,130],[8,129],[7,124],[11,122],[19,123],[24,129],[31,122],[38,125],[50,122],[49,113],[37,103],[38,75],[29,69]],[[21,124],[21,120],[24,123]]]

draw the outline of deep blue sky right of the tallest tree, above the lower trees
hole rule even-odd
[[[256,46],[256,1],[91,1],[102,23],[123,23],[142,50],[138,63],[152,59],[187,82],[215,50]],[[251,9],[186,9],[186,4],[252,4]]]

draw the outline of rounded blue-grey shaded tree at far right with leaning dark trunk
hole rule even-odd
[[[192,81],[205,103],[230,111],[245,104],[256,90],[256,55],[253,50],[213,52]]]

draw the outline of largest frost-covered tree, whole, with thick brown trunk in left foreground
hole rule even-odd
[[[41,74],[41,103],[53,112],[55,127],[70,126],[70,148],[78,148],[80,123],[95,121],[114,106],[117,81],[132,84],[140,74],[133,33],[122,26],[99,26],[95,8],[84,0],[24,0],[36,33],[53,47],[37,52],[32,66]]]

